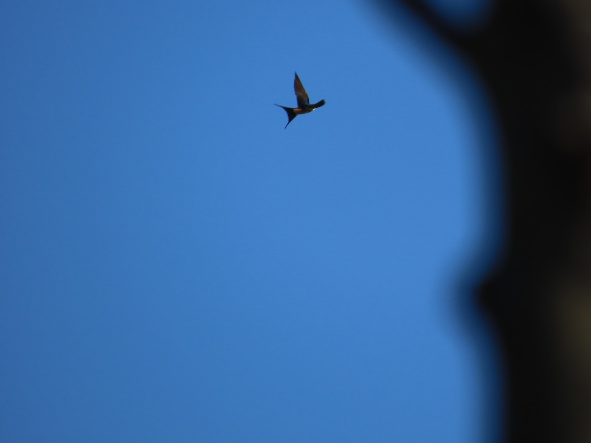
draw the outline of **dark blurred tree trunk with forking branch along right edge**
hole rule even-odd
[[[477,294],[506,359],[501,434],[591,442],[591,1],[496,1],[469,32],[385,1],[465,56],[501,123],[504,252]]]

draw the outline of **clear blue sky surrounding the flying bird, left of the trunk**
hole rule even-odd
[[[482,439],[482,110],[382,15],[2,2],[2,441]]]

